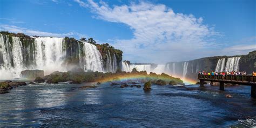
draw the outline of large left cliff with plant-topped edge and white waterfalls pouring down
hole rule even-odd
[[[39,66],[77,66],[85,70],[120,69],[123,52],[95,40],[28,36],[22,33],[0,32],[0,69],[31,69]],[[43,69],[43,68],[41,68]]]

